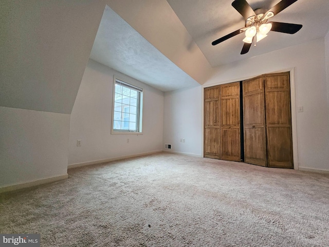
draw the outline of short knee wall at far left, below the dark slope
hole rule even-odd
[[[0,107],[0,187],[67,174],[69,114]]]

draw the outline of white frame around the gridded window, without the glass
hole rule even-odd
[[[135,86],[129,80],[121,79],[114,75],[113,77],[113,100],[112,100],[112,124],[111,124],[111,134],[113,135],[120,135],[120,134],[132,134],[132,135],[141,135],[142,134],[142,109],[143,109],[143,89],[139,86]],[[137,131],[129,131],[129,130],[115,130],[114,129],[114,108],[115,108],[115,85],[117,82],[120,82],[131,89],[134,89],[139,92],[139,102],[138,102],[138,109],[137,109]]]

